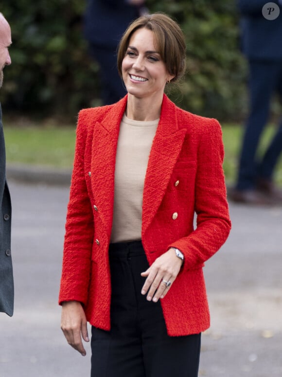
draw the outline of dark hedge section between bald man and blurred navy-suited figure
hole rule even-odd
[[[2,103],[19,112],[67,117],[99,98],[98,67],[82,36],[83,1],[6,0],[1,11],[13,40]]]

